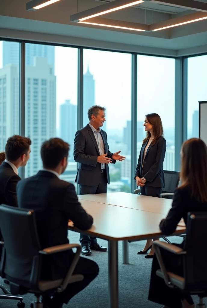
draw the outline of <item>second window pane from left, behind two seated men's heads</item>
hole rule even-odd
[[[60,177],[71,183],[75,181],[77,67],[77,48],[26,44],[25,134],[32,140],[32,152],[25,177],[42,168],[41,144],[49,138],[60,137],[70,144],[69,163]]]

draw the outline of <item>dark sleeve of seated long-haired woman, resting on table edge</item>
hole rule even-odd
[[[175,190],[172,208],[169,210],[167,217],[160,222],[160,230],[162,233],[165,235],[172,234],[184,214],[185,198],[182,198],[181,190],[178,188]]]

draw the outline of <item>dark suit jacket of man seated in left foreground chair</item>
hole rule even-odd
[[[78,201],[73,184],[60,180],[48,171],[20,181],[17,185],[18,206],[33,209],[41,249],[68,244],[67,225],[71,219],[82,230],[91,228],[93,218]],[[43,256],[42,278],[63,278],[73,258],[72,250]]]

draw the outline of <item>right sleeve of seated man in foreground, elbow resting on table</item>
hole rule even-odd
[[[67,188],[65,200],[63,202],[64,212],[74,226],[81,230],[90,229],[93,224],[93,217],[88,215],[82,208],[75,192],[75,186],[70,184]]]

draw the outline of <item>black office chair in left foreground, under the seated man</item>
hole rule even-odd
[[[64,244],[41,250],[33,210],[0,205],[0,227],[4,239],[0,275],[10,282],[11,294],[34,293],[36,300],[31,307],[43,308],[40,295],[62,292],[69,283],[83,280],[83,275],[72,275],[81,246]],[[72,248],[77,250],[66,277],[55,281],[40,280],[42,255]]]

